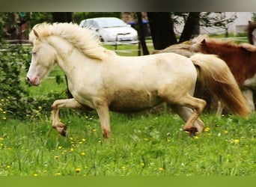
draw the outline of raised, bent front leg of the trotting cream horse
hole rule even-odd
[[[52,127],[63,136],[67,136],[67,125],[61,123],[58,112],[59,108],[88,109],[87,106],[80,104],[76,99],[58,99],[52,104]]]

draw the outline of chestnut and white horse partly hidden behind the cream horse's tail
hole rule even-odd
[[[199,35],[192,40],[190,49],[192,52],[213,54],[222,58],[237,80],[250,110],[255,111],[253,90],[256,90],[256,46]],[[222,112],[222,107],[218,108],[218,112]]]

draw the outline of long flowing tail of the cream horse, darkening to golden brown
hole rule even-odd
[[[198,70],[198,82],[216,94],[232,114],[248,117],[249,107],[237,81],[225,61],[216,55],[193,55],[190,60]]]

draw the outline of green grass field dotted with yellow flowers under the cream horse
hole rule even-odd
[[[63,76],[58,68],[49,76],[56,75]],[[24,86],[38,99],[66,89],[55,79]],[[202,114],[206,129],[195,137],[183,132],[184,122],[165,107],[111,113],[112,136],[103,141],[94,111],[61,110],[68,124],[64,138],[52,129],[48,114],[34,110],[37,117],[1,121],[0,176],[256,176],[255,113],[248,119]]]

